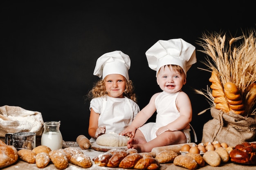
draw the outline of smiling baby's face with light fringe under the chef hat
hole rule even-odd
[[[175,93],[180,91],[182,86],[186,84],[186,75],[174,71],[168,66],[162,66],[157,74],[157,84],[163,91]]]

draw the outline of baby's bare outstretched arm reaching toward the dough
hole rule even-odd
[[[155,97],[157,97],[157,95],[159,95],[159,93],[156,93],[151,97],[149,103],[137,114],[130,126],[122,130],[119,135],[126,135],[129,137],[135,136],[135,131],[137,128],[144,125],[146,121],[155,113]]]

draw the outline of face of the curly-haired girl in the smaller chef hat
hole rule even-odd
[[[120,74],[110,74],[104,79],[105,88],[110,97],[123,98],[126,89],[126,78]]]

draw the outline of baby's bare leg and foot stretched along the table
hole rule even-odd
[[[129,140],[129,147],[136,149],[138,152],[151,152],[151,150],[155,147],[159,146],[167,146],[173,144],[184,144],[186,143],[186,136],[182,131],[166,131],[157,136],[155,139],[141,144],[136,141]],[[135,141],[135,143],[132,143]]]

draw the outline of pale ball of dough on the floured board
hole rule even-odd
[[[102,146],[121,147],[127,146],[127,141],[130,137],[119,135],[115,132],[109,132],[99,136],[96,139],[96,143]]]

